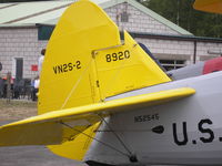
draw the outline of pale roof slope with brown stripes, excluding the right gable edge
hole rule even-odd
[[[0,24],[40,23],[59,18],[77,0],[0,3]],[[111,0],[92,0],[101,4]]]

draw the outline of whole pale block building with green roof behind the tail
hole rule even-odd
[[[31,79],[59,17],[74,0],[0,3],[0,76]],[[196,38],[134,0],[93,0],[168,69],[219,56],[222,39]]]

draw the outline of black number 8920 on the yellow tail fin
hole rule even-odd
[[[107,62],[119,61],[119,60],[124,60],[124,59],[129,59],[129,58],[130,58],[129,50],[125,50],[124,52],[120,51],[118,53],[114,52],[114,53],[105,55]]]

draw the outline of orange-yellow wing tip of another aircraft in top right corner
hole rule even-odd
[[[208,12],[222,13],[222,0],[195,0],[193,8]]]

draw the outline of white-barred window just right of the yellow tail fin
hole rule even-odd
[[[159,60],[159,61],[167,71],[185,66],[185,60]]]

